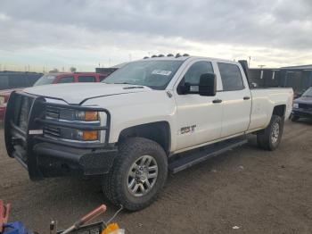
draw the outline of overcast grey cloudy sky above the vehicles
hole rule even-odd
[[[312,63],[312,1],[0,0],[0,70],[94,71],[168,53]]]

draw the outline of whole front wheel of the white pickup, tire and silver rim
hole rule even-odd
[[[120,143],[111,172],[104,175],[103,192],[115,205],[141,210],[157,198],[167,174],[167,155],[159,144],[146,138],[129,138]]]

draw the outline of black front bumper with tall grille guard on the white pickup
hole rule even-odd
[[[19,99],[20,98],[20,99]],[[29,113],[27,117],[21,105],[21,98],[29,98]],[[81,126],[77,123],[66,123],[66,128],[105,130],[106,136],[103,143],[78,143],[64,142],[57,138],[46,138],[45,128],[45,98],[30,96],[24,93],[12,93],[7,105],[4,121],[5,146],[9,156],[19,161],[28,171],[31,180],[40,180],[46,177],[60,177],[66,175],[101,175],[110,171],[118,149],[108,143],[110,130],[110,113],[98,107],[62,104],[62,108],[79,110],[96,110],[107,112],[108,124],[93,127]],[[50,104],[49,104],[50,105]],[[55,104],[60,105],[60,104]],[[21,105],[22,106],[22,105]],[[26,123],[21,122],[22,120]],[[51,121],[48,121],[51,124]],[[55,126],[64,125],[53,121]]]

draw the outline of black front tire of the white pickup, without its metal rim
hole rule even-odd
[[[158,166],[158,175],[151,190],[143,196],[134,196],[127,188],[128,171],[133,163],[150,155]],[[151,205],[163,188],[168,175],[168,157],[163,148],[147,138],[128,138],[119,145],[119,155],[110,173],[103,177],[103,193],[114,205],[123,205],[128,211],[137,211]]]

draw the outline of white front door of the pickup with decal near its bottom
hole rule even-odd
[[[185,82],[198,85],[201,74],[214,73],[209,61],[200,60],[190,63],[185,69],[178,86]],[[200,96],[199,94],[179,94],[177,86],[177,150],[201,145],[220,138],[222,129],[223,105],[216,96]],[[220,86],[217,76],[217,88]],[[219,90],[220,88],[218,88]],[[195,90],[193,90],[195,91]]]

